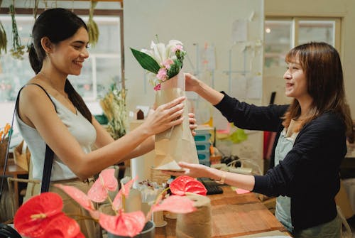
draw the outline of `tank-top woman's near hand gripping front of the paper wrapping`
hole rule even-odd
[[[172,126],[181,124],[184,112],[183,101],[186,97],[178,97],[171,102],[160,105],[154,112],[148,114],[142,126],[146,129],[148,136],[158,134]]]

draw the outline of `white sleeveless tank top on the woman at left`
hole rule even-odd
[[[70,109],[67,109],[62,105],[57,99],[50,95],[55,107],[57,108],[58,117],[62,120],[63,124],[67,126],[67,129],[70,131],[70,134],[77,139],[82,150],[85,153],[91,151],[92,145],[96,140],[96,131],[94,126],[87,121],[86,118],[80,114],[77,110],[77,114],[72,113]],[[43,175],[43,166],[45,158],[45,141],[38,133],[38,131],[31,126],[25,124],[16,112],[16,122],[18,125],[18,130],[20,131],[23,139],[26,141],[28,148],[31,152],[31,162],[33,163],[33,179],[42,180]],[[62,138],[65,140],[65,138]],[[57,180],[67,180],[77,178],[77,176],[72,173],[70,168],[68,168],[65,163],[60,161],[58,156],[54,155],[52,174],[50,177],[51,181]]]

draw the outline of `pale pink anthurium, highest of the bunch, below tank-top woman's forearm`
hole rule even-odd
[[[114,176],[114,168],[108,168],[99,174],[99,178],[92,185],[87,195],[94,202],[104,202],[108,191],[116,190],[117,186],[118,182]]]

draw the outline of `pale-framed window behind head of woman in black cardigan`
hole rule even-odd
[[[340,18],[266,17],[264,35],[263,102],[276,92],[275,103],[289,103],[283,74],[288,51],[310,41],[323,41],[339,50]]]

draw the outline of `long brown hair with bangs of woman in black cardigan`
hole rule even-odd
[[[342,63],[337,50],[327,43],[311,42],[298,45],[288,52],[286,62],[299,61],[307,79],[307,90],[314,99],[310,112],[296,131],[324,112],[335,112],[344,121],[346,136],[353,138],[349,105],[346,103]],[[285,113],[283,126],[300,116],[300,104],[293,99]]]

